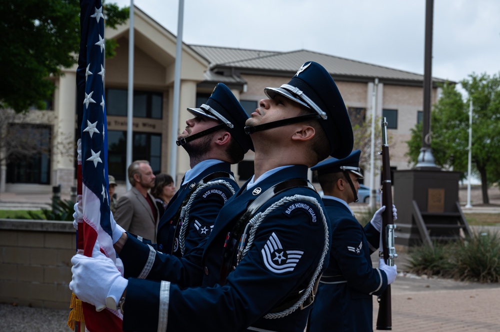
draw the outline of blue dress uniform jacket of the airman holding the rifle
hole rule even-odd
[[[310,332],[373,331],[372,295],[387,288],[387,276],[373,269],[370,254],[378,248],[380,233],[368,223],[364,229],[347,204],[323,197],[331,223],[329,266],[319,282],[311,311]]]

